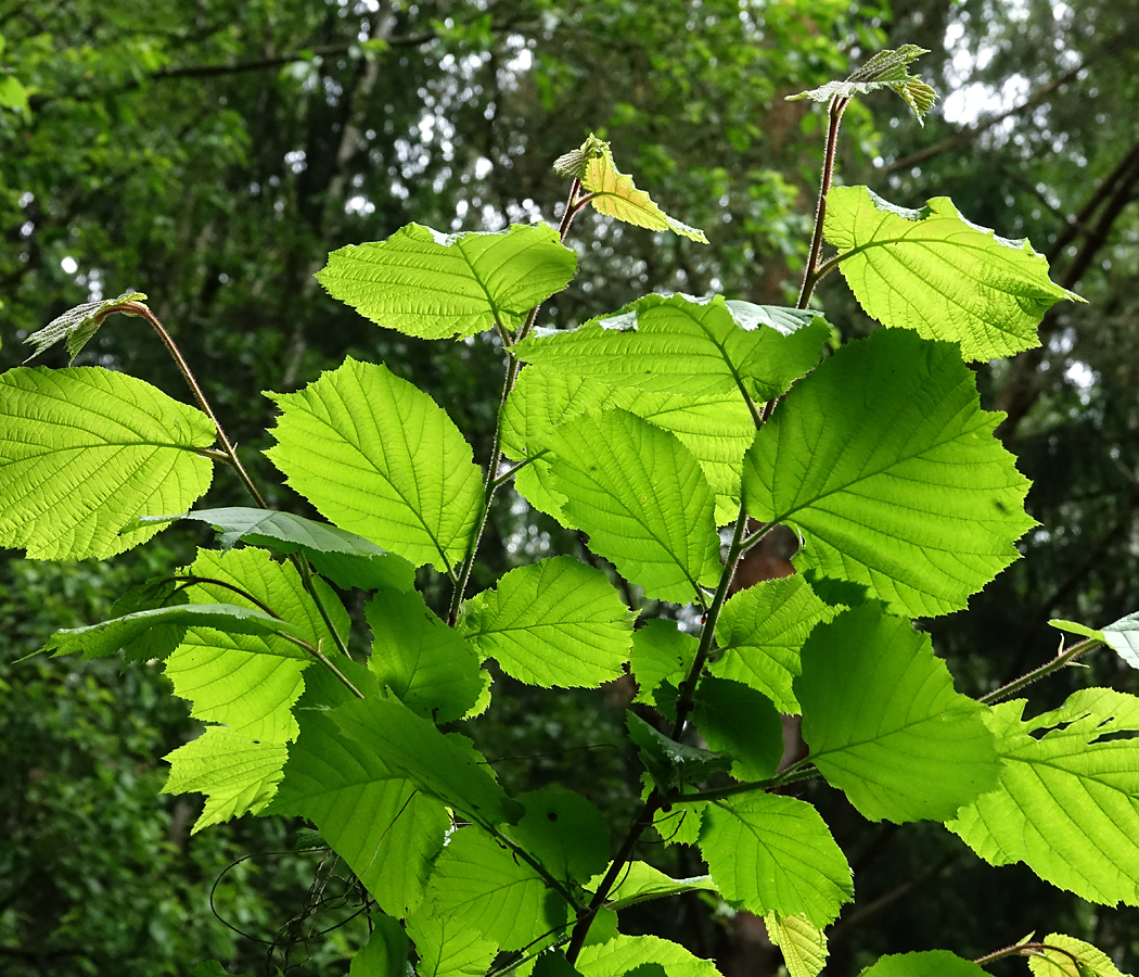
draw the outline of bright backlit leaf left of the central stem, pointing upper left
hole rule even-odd
[[[462,561],[482,473],[426,393],[350,357],[304,390],[268,396],[282,414],[265,454],[321,515],[417,567]]]

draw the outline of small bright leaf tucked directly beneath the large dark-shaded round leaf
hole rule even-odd
[[[820,601],[800,575],[762,580],[723,605],[715,628],[721,657],[708,670],[762,692],[780,713],[797,715],[792,683],[801,671],[800,649],[816,625],[839,610]]]

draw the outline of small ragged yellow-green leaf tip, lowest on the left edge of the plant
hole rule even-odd
[[[166,754],[170,776],[162,792],[206,795],[190,830],[195,834],[247,812],[259,813],[277,792],[287,757],[284,743],[260,743],[223,726],[207,726],[196,740]]]

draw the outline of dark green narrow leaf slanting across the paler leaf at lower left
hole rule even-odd
[[[364,699],[336,710],[336,722],[387,766],[469,820],[514,823],[522,808],[487,772],[465,736],[444,736],[398,699]]]

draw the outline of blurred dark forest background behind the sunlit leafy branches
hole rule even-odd
[[[1023,542],[1026,559],[967,614],[940,622],[935,643],[974,683],[964,691],[978,692],[1050,654],[1049,617],[1100,626],[1136,610],[1134,0],[9,0],[0,36],[3,366],[64,309],[138,288],[255,467],[271,416],[260,391],[296,389],[352,352],[431,390],[476,456],[489,449],[497,348],[460,343],[439,360],[326,301],[312,274],[328,251],[410,221],[458,230],[554,220],[567,187],[550,163],[596,131],[712,244],[583,217],[573,236],[581,274],[548,323],[574,325],[653,290],[787,301],[822,116],[782,96],[887,44],[929,48],[923,73],[943,99],[926,127],[890,99],[855,104],[839,178],[904,206],[952,196],[972,220],[1029,236],[1054,277],[1089,299],[1054,310],[1041,350],[978,371],[986,406],[1009,413],[1002,434],[1035,482],[1041,527]],[[844,334],[868,328],[842,287],[823,285],[819,301]],[[137,320],[101,329],[81,361],[129,367],[183,396]],[[272,500],[295,506],[284,489]],[[237,502],[222,475],[207,503]],[[517,515],[497,508],[489,567],[541,555],[560,531]],[[163,539],[166,549],[114,568],[0,562],[5,972],[185,974],[210,956],[252,969],[267,953],[214,919],[208,891],[230,861],[293,838],[256,820],[187,836],[194,813],[157,797],[158,758],[195,725],[164,679],[105,662],[13,663],[55,628],[106,614],[130,583],[186,561],[199,538]],[[1137,691],[1123,671],[1095,678]],[[1075,670],[1070,681],[1084,684]],[[597,699],[500,694],[486,748],[522,758],[501,764],[503,781],[585,782],[613,809],[628,804],[625,759],[588,749],[621,722],[623,702]],[[911,948],[981,954],[1059,919],[1139,961],[1133,911],[1092,911],[1026,871],[983,870],[923,825],[835,814],[860,902],[836,927],[831,972]],[[261,939],[295,944],[296,972],[343,972],[336,961],[359,920],[303,941],[351,911],[347,882],[335,905],[313,895],[329,871],[318,865],[311,855],[243,862],[219,887],[219,910]],[[767,972],[778,960],[744,918],[710,915],[697,897],[670,912],[653,925],[719,956],[726,972]]]

